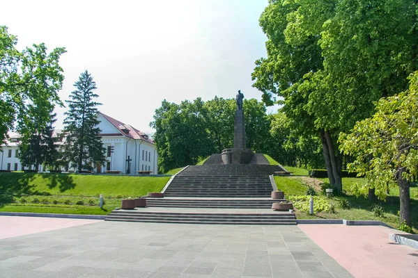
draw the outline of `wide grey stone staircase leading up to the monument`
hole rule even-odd
[[[147,197],[147,208],[112,211],[106,220],[199,224],[296,224],[295,215],[272,211],[269,175],[277,165],[189,166],[163,190]]]

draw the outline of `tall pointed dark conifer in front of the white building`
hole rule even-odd
[[[92,170],[93,165],[103,164],[106,160],[97,119],[97,106],[101,104],[93,101],[98,97],[93,92],[97,89],[95,85],[93,76],[86,70],[74,83],[76,90],[71,92],[70,100],[65,101],[68,104],[64,120],[65,153],[71,166],[78,171]]]

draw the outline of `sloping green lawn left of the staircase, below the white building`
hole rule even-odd
[[[108,214],[124,197],[160,192],[169,178],[0,173],[0,211]],[[98,206],[100,194],[104,209]]]

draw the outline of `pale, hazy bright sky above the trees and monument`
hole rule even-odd
[[[266,56],[258,19],[268,0],[2,1],[0,25],[17,49],[45,42],[65,47],[61,100],[88,70],[103,113],[153,133],[149,123],[167,99],[261,100],[254,62]],[[56,108],[56,128],[66,108]],[[268,108],[274,113],[277,107]]]

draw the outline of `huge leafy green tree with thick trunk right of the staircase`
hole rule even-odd
[[[413,0],[277,0],[261,15],[268,58],[256,61],[254,87],[266,104],[283,97],[295,131],[320,136],[339,190],[338,134],[369,117],[374,101],[406,88],[417,65],[416,10]]]

